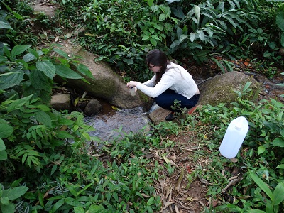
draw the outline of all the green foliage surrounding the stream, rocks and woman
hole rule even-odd
[[[202,175],[210,183],[209,197],[219,198],[229,183],[229,170],[221,173],[224,168],[237,167],[242,173],[241,182],[226,192],[235,198],[233,202],[222,200],[205,212],[284,208],[282,103],[271,99],[254,104],[243,99],[249,92],[247,84],[230,109],[224,104],[204,106],[180,125],[161,123],[150,133],[124,134],[90,155],[87,142],[102,141],[89,136],[93,129],[84,124],[83,115],[55,111],[49,104],[56,75],[79,79],[90,77],[89,70],[60,47],[35,48],[38,35],[31,31],[38,25],[57,35],[62,33],[58,26],[72,29],[76,23],[84,32],[76,40],[131,78],[148,77],[148,70],[141,67],[143,55],[151,48],[197,62],[211,58],[224,70],[230,69],[230,62],[215,59],[215,54],[281,64],[280,1],[57,2],[64,10],[48,18],[33,13],[28,1],[0,1],[1,212],[158,212],[161,200],[155,194],[155,180],[161,170],[170,175],[177,168],[157,162],[150,167],[146,153],[175,146],[168,135],[181,131],[195,132],[201,145],[209,148],[210,152],[195,151],[195,158],[212,159],[207,168],[196,168],[188,178]],[[47,36],[40,33],[40,38]],[[219,156],[218,147],[236,116],[246,116],[250,129],[239,161],[233,163]],[[107,160],[99,160],[106,154]]]

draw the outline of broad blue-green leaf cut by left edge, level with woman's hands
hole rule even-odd
[[[20,69],[15,69],[14,72],[7,73],[7,75],[2,75],[0,77],[0,89],[8,89],[10,87],[16,86],[23,80],[23,71]]]

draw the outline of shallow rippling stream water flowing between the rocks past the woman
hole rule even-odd
[[[195,74],[195,75],[194,75]],[[203,77],[199,73],[192,74],[195,82],[198,84],[206,81],[209,77]],[[212,77],[212,76],[210,76]],[[259,99],[277,99],[284,103],[284,98],[280,94],[284,94],[284,87],[276,84],[283,83],[283,75],[277,75],[273,80],[268,79],[264,75],[254,73],[253,77],[263,84]],[[102,111],[98,115],[89,116],[85,118],[87,124],[96,129],[89,132],[90,136],[96,136],[99,141],[110,141],[117,137],[123,137],[128,133],[138,133],[144,127],[145,131],[150,129],[150,119],[148,114],[158,107],[153,104],[150,111],[145,111],[143,107],[136,107],[134,109],[115,109],[110,104],[102,102]]]

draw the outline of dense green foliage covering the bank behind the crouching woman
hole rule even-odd
[[[143,55],[153,48],[200,64],[213,60],[223,72],[233,69],[230,60],[236,58],[283,65],[284,6],[278,1],[88,3],[72,17],[84,29],[78,41],[132,79],[148,78]],[[61,5],[70,8],[73,4],[75,1],[62,1]],[[60,14],[64,16],[65,11]],[[228,60],[217,60],[215,55]]]

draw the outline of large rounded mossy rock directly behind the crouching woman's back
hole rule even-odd
[[[216,75],[200,84],[199,104],[216,106],[219,103],[226,103],[229,107],[229,104],[235,102],[238,97],[238,94],[236,94],[234,90],[241,92],[246,82],[251,82],[251,86],[249,87],[251,92],[246,94],[246,99],[250,99],[254,102],[261,91],[261,84],[253,77],[233,71]]]

